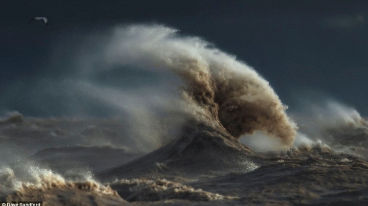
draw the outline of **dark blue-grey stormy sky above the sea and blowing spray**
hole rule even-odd
[[[54,66],[63,61],[53,52],[61,39],[73,44],[89,30],[156,23],[236,55],[291,110],[297,96],[323,94],[368,115],[367,1],[7,1],[0,11],[0,110],[60,115],[33,108],[28,89],[67,75]],[[47,16],[49,27],[26,26],[33,16]]]

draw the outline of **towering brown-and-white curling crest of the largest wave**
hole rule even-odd
[[[296,125],[279,97],[253,68],[198,37],[165,26],[116,28],[106,47],[110,65],[167,68],[185,82],[186,110],[197,120],[239,138],[257,130],[291,146]]]

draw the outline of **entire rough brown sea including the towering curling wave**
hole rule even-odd
[[[84,54],[100,66],[83,67],[80,75],[126,66],[169,72],[179,78],[176,95],[70,78],[63,83],[75,92],[119,106],[125,115],[4,116],[2,201],[368,204],[368,122],[353,108],[327,101],[288,116],[253,68],[164,26],[114,28],[103,42],[97,60]]]

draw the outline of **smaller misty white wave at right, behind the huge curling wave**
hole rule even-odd
[[[300,112],[291,116],[298,123],[300,132],[309,139],[337,149],[368,149],[368,121],[356,109],[331,100],[305,104]]]

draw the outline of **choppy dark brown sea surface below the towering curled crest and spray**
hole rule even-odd
[[[1,200],[43,205],[368,204],[366,127],[335,135],[336,142],[344,141],[344,148],[335,148],[345,152],[314,143],[262,153],[196,121],[187,122],[179,138],[145,152],[121,136],[121,127],[119,118],[15,115],[2,121]]]

